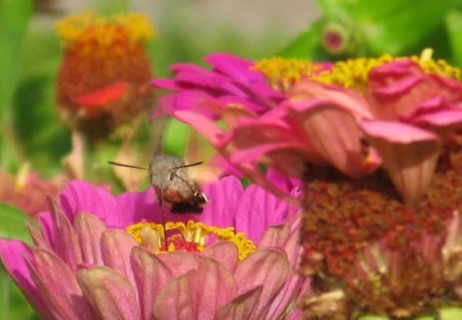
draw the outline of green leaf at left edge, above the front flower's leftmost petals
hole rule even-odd
[[[0,238],[22,240],[31,245],[32,240],[25,225],[26,220],[32,225],[35,224],[26,213],[8,203],[0,202]]]

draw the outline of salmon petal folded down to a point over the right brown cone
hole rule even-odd
[[[433,178],[441,150],[439,137],[399,122],[370,120],[361,127],[382,156],[382,166],[404,202],[419,201]]]

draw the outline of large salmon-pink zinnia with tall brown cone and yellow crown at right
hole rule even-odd
[[[348,60],[301,78],[264,114],[215,99],[173,116],[267,188],[286,191],[260,164],[303,181],[306,319],[444,319],[461,310],[439,307],[462,301],[457,79],[424,57]],[[214,114],[228,128],[204,109],[226,110]]]

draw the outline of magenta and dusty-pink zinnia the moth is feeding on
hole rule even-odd
[[[71,181],[33,247],[0,240],[1,259],[44,319],[299,319],[298,209],[231,176],[203,189],[202,214],[166,210],[166,247],[152,189]]]

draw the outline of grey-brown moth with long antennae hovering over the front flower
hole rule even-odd
[[[147,170],[149,182],[161,201],[162,210],[166,202],[171,204],[172,213],[201,213],[203,205],[208,203],[198,183],[188,175],[188,167],[202,164],[202,161],[185,164],[179,156],[164,154],[154,156],[148,169],[114,161],[109,161],[109,164]]]

